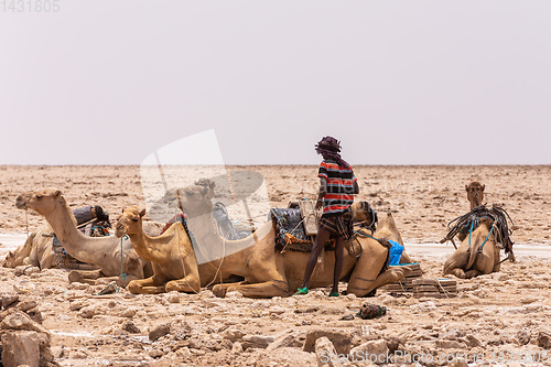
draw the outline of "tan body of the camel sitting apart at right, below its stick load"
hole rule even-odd
[[[447,258],[444,265],[444,276],[453,274],[468,279],[499,271],[499,246],[496,242],[496,231],[491,228],[490,219],[482,218],[471,237],[467,236],[460,248]]]

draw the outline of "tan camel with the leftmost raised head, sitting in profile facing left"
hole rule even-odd
[[[73,270],[68,274],[69,282],[96,284],[117,281],[120,278],[120,285],[126,287],[131,280],[152,276],[151,263],[138,256],[129,240],[122,244],[121,261],[120,239],[115,236],[83,235],[76,228],[75,216],[60,190],[26,192],[18,196],[15,206],[20,209],[34,209],[44,216],[68,255],[78,261],[99,268],[99,270]],[[126,277],[119,277],[121,266]]]

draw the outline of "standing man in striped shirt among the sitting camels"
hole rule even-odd
[[[310,253],[304,280],[296,294],[309,292],[307,283],[314,270],[317,257],[325,242],[335,238],[335,269],[333,272],[333,288],[329,296],[338,296],[338,281],[343,270],[343,256],[345,240],[352,238],[353,220],[350,205],[354,194],[359,193],[358,182],[352,166],[341,158],[341,142],[333,137],[323,138],[315,145],[317,154],[323,156],[317,176],[320,177],[320,193],[316,208],[323,206],[322,218],[315,238],[314,247]]]

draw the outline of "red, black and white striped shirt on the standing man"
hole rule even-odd
[[[317,176],[327,180],[327,193],[323,197],[323,216],[338,215],[348,209],[354,203],[354,182],[357,181],[352,168],[324,160],[320,163]]]

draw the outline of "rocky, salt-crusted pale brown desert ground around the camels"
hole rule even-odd
[[[227,169],[262,174],[274,207],[317,188],[316,166]],[[50,363],[60,366],[551,365],[551,166],[354,169],[357,199],[392,212],[423,278],[442,278],[453,246],[439,241],[446,224],[468,212],[465,185],[473,180],[486,185],[486,203],[514,219],[517,262],[457,280],[457,296],[444,299],[382,290],[329,299],[328,289],[267,300],[237,292],[220,299],[208,289],[97,295],[105,287],[69,284],[67,270],[0,268],[1,327],[10,310],[30,312],[50,335]],[[139,166],[0,166],[0,257],[44,224],[15,208],[24,191],[60,188],[71,206],[101,205],[111,220],[128,205],[144,206]],[[356,317],[365,303],[387,314]]]

